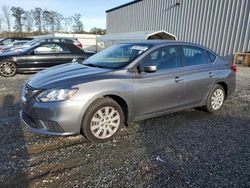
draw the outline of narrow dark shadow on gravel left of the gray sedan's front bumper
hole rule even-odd
[[[0,187],[27,187],[28,152],[19,103],[7,94],[0,103]]]

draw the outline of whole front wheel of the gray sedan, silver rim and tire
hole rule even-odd
[[[124,123],[123,110],[111,98],[95,101],[86,111],[82,130],[91,142],[103,143],[113,139]]]

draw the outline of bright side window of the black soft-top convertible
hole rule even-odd
[[[69,53],[69,50],[57,44],[44,44],[34,49],[35,54]]]

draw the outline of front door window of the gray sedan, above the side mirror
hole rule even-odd
[[[157,70],[172,69],[179,67],[179,61],[178,48],[168,46],[147,55],[140,67],[157,66]]]

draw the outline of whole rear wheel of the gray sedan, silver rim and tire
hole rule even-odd
[[[208,96],[207,104],[205,106],[208,112],[217,112],[221,109],[225,101],[225,90],[220,85],[215,85],[212,92]]]

